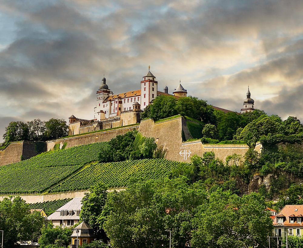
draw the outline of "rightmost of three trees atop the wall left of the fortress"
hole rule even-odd
[[[66,125],[66,121],[64,119],[55,119],[52,118],[45,122],[46,127],[46,137],[49,139],[58,137],[64,137],[68,135],[68,126]]]

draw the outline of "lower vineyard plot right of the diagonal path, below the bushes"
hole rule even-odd
[[[112,163],[92,163],[52,187],[50,192],[88,190],[95,183],[109,188],[124,187],[131,177],[156,179],[167,177],[179,162],[165,159],[127,160]]]

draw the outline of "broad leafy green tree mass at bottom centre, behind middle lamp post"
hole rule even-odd
[[[207,194],[187,178],[132,181],[125,191],[108,195],[110,210],[103,227],[112,247],[184,247],[191,237],[195,208]]]

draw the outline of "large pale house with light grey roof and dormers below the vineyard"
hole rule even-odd
[[[75,225],[80,219],[81,200],[82,197],[75,197],[48,216],[48,220],[52,220],[55,226],[71,227]]]

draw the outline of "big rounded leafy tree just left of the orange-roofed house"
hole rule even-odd
[[[265,247],[273,229],[264,197],[242,198],[217,190],[200,206],[194,219],[191,245],[197,248]]]

